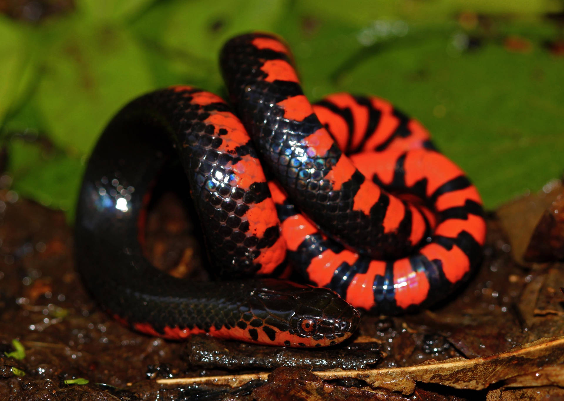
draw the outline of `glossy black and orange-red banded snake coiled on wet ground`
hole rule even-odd
[[[359,310],[415,311],[470,277],[482,201],[421,123],[374,96],[311,104],[274,34],[234,37],[219,59],[229,103],[186,85],[142,95],[90,155],[74,249],[104,310],[173,340],[323,347],[354,334]],[[144,253],[147,199],[171,164],[186,174],[213,281],[173,277]]]

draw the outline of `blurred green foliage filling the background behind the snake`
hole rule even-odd
[[[87,155],[118,108],[173,84],[224,94],[223,42],[268,30],[290,43],[311,99],[342,90],[389,99],[495,207],[564,168],[564,58],[543,46],[562,35],[545,15],[562,9],[556,0],[76,0],[35,24],[0,16],[12,189],[72,216]]]

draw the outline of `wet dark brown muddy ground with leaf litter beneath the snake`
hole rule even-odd
[[[101,311],[83,289],[74,272],[72,228],[64,214],[2,190],[0,399],[403,399],[401,393],[365,391],[366,383],[354,379],[322,383],[308,371],[477,358],[564,335],[564,265],[523,259],[536,222],[562,191],[555,181],[540,195],[489,213],[481,268],[468,285],[433,310],[403,317],[365,314],[355,342],[310,351],[206,337],[168,342],[131,332]],[[147,253],[158,267],[177,276],[205,278],[194,268],[205,255],[191,237],[191,225],[174,194],[157,202],[147,227]],[[17,358],[14,339],[23,346],[23,358]],[[254,380],[240,389],[157,383],[162,378],[270,372],[279,367],[296,369],[279,369],[267,385]],[[89,382],[72,381],[79,378]],[[481,391],[418,384],[408,398],[564,399],[561,388],[538,384],[533,379],[525,389],[512,389],[500,382]]]

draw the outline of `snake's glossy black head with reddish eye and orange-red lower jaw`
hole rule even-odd
[[[260,324],[253,332],[258,333],[255,342],[323,347],[344,341],[358,327],[359,312],[331,290],[280,280],[265,282],[253,294],[250,308],[254,316],[250,325]],[[270,335],[265,338],[261,332]]]

